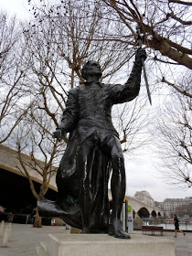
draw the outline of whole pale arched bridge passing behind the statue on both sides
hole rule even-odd
[[[23,157],[25,161],[31,161],[30,155],[23,155]],[[20,212],[22,210],[23,213],[25,210],[29,211],[36,207],[36,199],[32,195],[27,177],[20,171],[21,169],[16,150],[0,144],[0,206],[6,208],[7,211]],[[42,183],[42,177],[30,166],[27,167],[27,170],[38,190]],[[57,198],[58,190],[55,183],[55,175],[50,179],[49,189],[46,194],[46,197],[50,200],[56,200]],[[112,198],[110,190],[109,198]],[[163,211],[160,208],[144,204],[144,202],[135,197],[127,198],[128,204],[133,208],[133,217],[135,219],[163,216]]]

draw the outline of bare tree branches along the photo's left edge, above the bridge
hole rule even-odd
[[[0,25],[0,143],[4,143],[27,111],[27,106],[22,104],[26,97],[22,93],[26,68],[22,66],[25,48],[16,17],[1,11]]]

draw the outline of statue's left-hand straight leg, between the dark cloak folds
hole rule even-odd
[[[80,177],[81,233],[91,232],[91,169],[94,159],[94,145],[86,139],[77,148],[77,169]]]

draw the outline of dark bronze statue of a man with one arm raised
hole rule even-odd
[[[69,144],[57,173],[59,198],[38,202],[41,216],[64,219],[81,233],[108,233],[129,239],[120,220],[125,194],[125,169],[119,135],[112,125],[112,105],[132,101],[139,93],[145,50],[135,55],[132,73],[123,85],[102,84],[101,67],[88,61],[81,72],[86,80],[69,91],[66,109],[54,133]],[[112,171],[112,214],[108,182]]]

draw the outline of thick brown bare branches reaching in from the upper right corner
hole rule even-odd
[[[170,0],[103,2],[115,11],[133,37],[136,38],[133,26],[141,27],[143,42],[146,47],[155,49],[156,60],[165,61],[165,57],[170,63],[192,69],[190,3]]]

